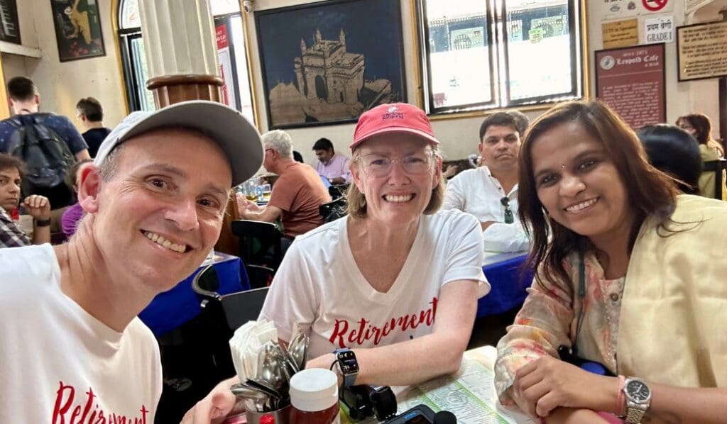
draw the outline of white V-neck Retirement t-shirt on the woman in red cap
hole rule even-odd
[[[457,280],[480,282],[482,233],[459,211],[423,215],[401,273],[387,293],[358,270],[348,242],[348,216],[296,237],[270,286],[260,317],[289,341],[297,323],[310,335],[309,358],[336,348],[387,346],[432,333],[441,288]],[[382,246],[385,249],[386,246]]]

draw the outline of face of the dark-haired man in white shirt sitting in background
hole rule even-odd
[[[517,169],[520,144],[517,129],[506,125],[491,125],[482,136],[478,150],[483,164],[492,171],[509,171]]]

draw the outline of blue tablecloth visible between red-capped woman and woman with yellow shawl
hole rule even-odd
[[[533,280],[531,270],[521,272],[527,257],[527,253],[502,253],[486,259],[482,270],[492,288],[478,301],[477,317],[502,314],[523,304]]]

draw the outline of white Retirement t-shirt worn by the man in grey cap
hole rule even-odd
[[[50,245],[0,249],[0,381],[0,423],[153,423],[159,348],[65,295]]]

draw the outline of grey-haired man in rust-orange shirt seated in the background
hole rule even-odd
[[[293,142],[288,133],[275,130],[262,134],[262,144],[262,166],[280,177],[268,205],[261,207],[238,196],[238,208],[242,218],[252,221],[275,222],[280,218],[283,235],[290,241],[323,224],[318,206],[329,203],[331,196],[313,168],[293,159]]]

